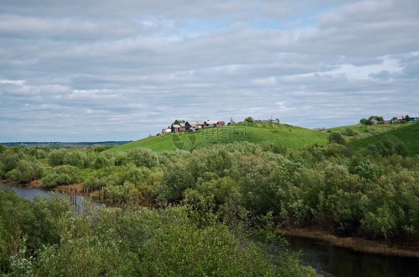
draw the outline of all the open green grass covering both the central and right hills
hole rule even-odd
[[[374,133],[374,130],[384,132],[371,136],[346,137],[349,146],[355,149],[366,148],[369,144],[376,144],[384,136],[391,135],[406,145],[409,155],[419,153],[419,123],[394,124],[394,125],[351,125],[330,128],[331,131],[344,132],[347,128],[360,133]],[[111,149],[111,151],[127,152],[132,148],[145,147],[154,151],[175,150],[176,148],[189,150],[192,146],[208,144],[227,144],[234,141],[261,142],[270,141],[286,148],[300,149],[308,145],[324,145],[327,143],[328,133],[312,129],[291,126],[281,123],[238,123],[219,128],[200,129],[196,132],[167,133],[153,136],[130,143],[126,143]]]

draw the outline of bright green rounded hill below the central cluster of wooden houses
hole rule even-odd
[[[148,137],[112,148],[112,151],[129,151],[136,147],[150,148],[154,151],[175,150],[190,144],[201,146],[213,143],[234,141],[270,141],[286,148],[302,148],[311,144],[325,144],[328,134],[311,129],[280,123],[238,123],[219,128],[201,129],[196,132],[168,133]],[[174,143],[173,143],[174,142]],[[187,143],[190,143],[189,145]]]

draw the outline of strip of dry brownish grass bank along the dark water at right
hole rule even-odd
[[[358,252],[419,258],[419,245],[396,244],[357,237],[339,238],[330,234],[328,231],[312,227],[281,227],[279,230],[285,233],[286,236],[307,238],[317,243],[344,247]]]

